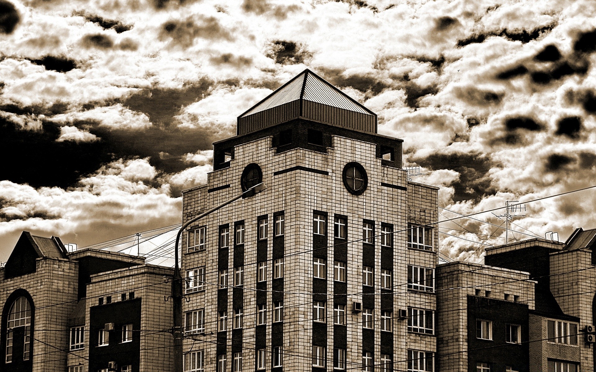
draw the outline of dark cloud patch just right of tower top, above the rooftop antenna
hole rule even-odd
[[[427,158],[415,160],[417,164],[431,170],[449,169],[460,173],[460,180],[455,182],[454,202],[474,200],[494,192],[488,171],[495,167],[495,162],[482,154],[432,154]]]

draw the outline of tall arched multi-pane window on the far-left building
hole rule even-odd
[[[15,355],[13,355],[13,348],[15,343],[15,332],[17,328],[24,327],[19,334],[24,337],[23,340],[23,360],[31,358],[31,305],[29,300],[24,296],[20,296],[14,300],[8,311],[7,333],[6,333],[6,362],[12,362]],[[19,337],[20,338],[20,337]]]

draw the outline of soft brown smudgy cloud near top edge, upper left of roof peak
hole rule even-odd
[[[196,37],[212,40],[232,40],[229,30],[225,29],[215,17],[192,17],[186,20],[167,21],[162,26],[162,38],[170,37],[172,42],[188,48]]]

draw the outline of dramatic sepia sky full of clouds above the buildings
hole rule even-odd
[[[595,66],[592,0],[0,0],[0,261],[22,230],[80,247],[179,223],[211,143],[305,68],[405,141],[441,219],[596,185]],[[595,206],[527,203],[508,236],[564,241]],[[505,243],[474,218],[439,225],[443,254]]]

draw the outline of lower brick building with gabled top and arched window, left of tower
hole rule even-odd
[[[170,371],[172,269],[23,232],[0,268],[0,370]]]

